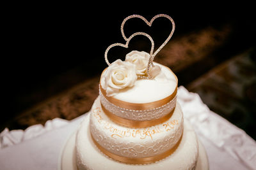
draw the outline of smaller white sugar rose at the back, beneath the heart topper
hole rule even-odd
[[[131,62],[136,66],[137,75],[145,75],[147,74],[149,57],[150,57],[149,53],[138,52],[135,50],[130,53],[127,53],[125,57],[125,61]]]

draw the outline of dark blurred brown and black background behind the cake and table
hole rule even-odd
[[[132,14],[150,20],[164,13],[173,18],[176,29],[156,62],[170,67],[179,85],[198,93],[212,111],[256,139],[256,27],[251,5],[132,4],[123,9],[124,5],[8,7],[2,24],[0,131],[26,129],[55,117],[71,120],[89,111],[98,95],[99,75],[107,66],[106,48],[125,43],[122,20]],[[164,19],[155,22],[149,28],[140,20],[129,21],[125,32],[151,31],[157,48],[172,27]],[[131,42],[133,48],[146,51],[149,44],[143,38]],[[109,51],[109,60],[122,53],[118,48]]]

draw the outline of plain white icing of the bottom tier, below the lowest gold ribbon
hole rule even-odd
[[[209,169],[207,164],[207,155],[205,154],[204,148],[200,149],[199,159],[200,164],[196,165],[198,159],[198,141],[196,138],[195,131],[188,121],[184,120],[184,132],[180,145],[170,156],[165,159],[159,160],[151,164],[124,164],[117,162],[100,152],[92,141],[90,134],[90,119],[86,118],[76,136],[76,163],[79,170],[82,169],[94,169],[94,170],[109,170],[110,169],[196,169],[196,170],[207,170]],[[202,147],[202,145],[199,145]],[[196,166],[196,167],[195,167]]]

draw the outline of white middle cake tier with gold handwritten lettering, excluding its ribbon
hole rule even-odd
[[[112,122],[102,111],[99,97],[90,117],[92,136],[111,153],[122,157],[152,157],[175,146],[182,136],[183,116],[179,104],[163,124],[145,128],[129,128]]]

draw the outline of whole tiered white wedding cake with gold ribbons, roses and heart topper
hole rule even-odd
[[[128,19],[140,18],[151,26],[159,17],[168,18],[173,29],[155,53],[154,41],[145,32],[125,37]],[[76,132],[73,159],[77,169],[208,169],[204,147],[177,103],[177,76],[153,62],[174,28],[168,15],[156,15],[150,22],[140,15],[125,18],[121,31],[126,44],[107,48],[109,66],[100,76],[99,97]],[[128,48],[134,36],[150,39],[150,53],[133,50],[124,61],[109,63],[108,51],[115,46]]]

